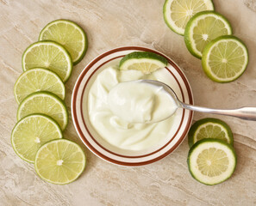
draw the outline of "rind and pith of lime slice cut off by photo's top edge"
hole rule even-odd
[[[172,1],[172,0],[171,0]],[[171,28],[171,30],[174,33],[178,33],[179,35],[184,36],[184,31],[180,31],[183,29],[180,28],[175,28],[172,26],[172,24],[168,21],[168,15],[171,15],[169,10],[170,10],[170,0],[165,0],[164,6],[163,6],[163,15],[164,15],[164,20],[165,20],[165,24]],[[207,3],[210,4],[209,9],[208,10],[215,10],[215,6],[214,3],[211,0],[208,0]],[[197,12],[198,13],[198,12]]]

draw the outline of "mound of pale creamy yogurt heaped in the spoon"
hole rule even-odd
[[[109,108],[129,123],[159,122],[177,110],[165,89],[147,82],[121,82],[109,92]]]

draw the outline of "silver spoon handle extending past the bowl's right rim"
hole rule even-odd
[[[226,116],[232,116],[235,118],[242,118],[247,120],[256,121],[256,107],[241,107],[238,109],[211,109],[203,106],[192,106],[188,104],[181,104],[181,107],[184,109],[196,111],[196,112],[206,112],[206,113],[214,113],[214,114],[221,114]]]

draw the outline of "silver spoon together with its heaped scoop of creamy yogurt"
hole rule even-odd
[[[111,112],[130,123],[156,123],[171,117],[177,109],[207,112],[256,121],[256,107],[211,109],[178,100],[177,94],[163,82],[137,80],[117,84],[109,92]]]

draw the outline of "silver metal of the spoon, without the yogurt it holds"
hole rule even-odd
[[[170,94],[172,96],[172,99],[175,100],[178,107],[196,111],[196,112],[206,112],[206,113],[213,113],[213,114],[220,114],[220,115],[226,115],[226,116],[232,116],[235,118],[242,118],[246,120],[253,120],[256,121],[256,107],[240,107],[237,109],[211,109],[203,106],[193,106],[186,104],[180,100],[178,100],[177,95],[175,92],[170,88],[168,85],[166,85],[163,82],[153,81],[153,80],[138,80],[134,82],[145,82],[153,84],[154,86],[162,87],[165,89],[165,92]],[[170,115],[172,116],[172,115]],[[163,119],[164,120],[164,119]]]

